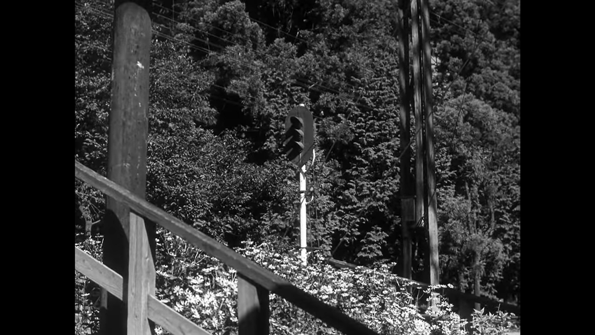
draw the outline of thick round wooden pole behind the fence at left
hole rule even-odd
[[[115,1],[112,97],[109,113],[108,178],[145,197],[149,110],[149,52],[151,19],[147,2]],[[130,209],[107,198],[103,221],[103,262],[124,278],[129,271]],[[146,223],[155,259],[155,225]],[[154,264],[153,264],[154,266]],[[127,308],[102,290],[100,333],[126,334]],[[153,328],[151,324],[149,328]]]

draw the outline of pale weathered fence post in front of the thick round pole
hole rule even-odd
[[[151,335],[147,299],[151,294],[151,283],[155,283],[155,271],[151,273],[153,258],[145,221],[140,216],[130,213],[129,222],[129,267],[127,301],[127,334]]]

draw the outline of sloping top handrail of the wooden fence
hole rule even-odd
[[[130,191],[115,184],[115,182],[110,181],[104,176],[99,175],[76,160],[74,161],[74,176],[97,188],[108,197],[126,204],[138,215],[168,229],[193,246],[198,247],[207,255],[217,258],[226,265],[236,269],[240,275],[249,281],[283,297],[288,302],[303,309],[321,321],[326,322],[331,327],[348,335],[377,335],[375,331],[372,331],[361,322],[353,320],[343,312],[339,311],[339,309],[321,302],[311,294],[306,293],[302,289],[289,283],[289,281],[262,268],[262,266],[252,260],[234,252],[220,242],[208,237],[197,229],[190,227],[180,219],[159,209],[148,201],[135,196]]]

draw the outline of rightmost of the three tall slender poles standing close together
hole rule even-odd
[[[434,162],[434,117],[432,113],[432,67],[430,48],[430,11],[428,0],[421,2],[421,57],[424,66],[425,164],[427,173],[427,207],[425,222],[430,244],[430,285],[440,283],[438,263],[438,222],[436,218],[436,164]],[[415,2],[415,1],[414,1]]]

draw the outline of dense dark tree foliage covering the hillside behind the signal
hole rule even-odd
[[[77,0],[75,158],[105,174],[113,8]],[[519,299],[520,2],[430,1],[441,282]],[[154,1],[147,198],[230,246],[296,245],[284,118],[312,111],[309,244],[400,255],[396,1]],[[75,185],[77,229],[102,215]],[[417,254],[414,275],[423,258]]]

